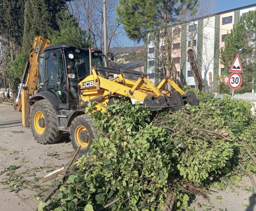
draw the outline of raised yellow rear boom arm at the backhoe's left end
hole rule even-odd
[[[38,78],[38,55],[43,50],[51,45],[51,41],[45,37],[38,36],[34,39],[33,47],[28,54],[24,73],[22,76],[22,87],[20,87],[19,94],[16,100],[14,109],[22,112],[22,125],[29,127],[29,97],[34,95]]]

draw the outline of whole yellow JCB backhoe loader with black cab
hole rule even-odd
[[[187,103],[198,106],[195,94],[185,94],[171,78],[154,76],[162,79],[156,87],[147,74],[104,67],[102,57],[100,50],[51,46],[47,38],[35,38],[14,107],[22,110],[22,124],[30,125],[38,143],[55,143],[68,131],[73,148],[81,145],[79,153],[86,153],[96,135],[84,113],[89,102],[97,102],[99,110],[101,103],[111,105],[120,96],[138,100],[152,111],[177,111]],[[168,82],[175,89],[172,93],[163,89]]]

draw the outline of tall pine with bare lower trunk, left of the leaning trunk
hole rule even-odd
[[[135,41],[146,40],[148,33],[163,29],[166,57],[164,69],[166,76],[172,75],[174,79],[176,68],[170,54],[168,26],[177,23],[178,16],[184,11],[196,12],[196,4],[197,0],[119,0],[116,7],[117,21],[124,25],[127,36]],[[181,83],[179,85],[182,86]]]

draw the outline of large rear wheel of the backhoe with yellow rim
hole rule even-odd
[[[31,107],[30,127],[35,140],[40,144],[54,144],[63,133],[58,130],[57,117],[48,100],[39,100]]]

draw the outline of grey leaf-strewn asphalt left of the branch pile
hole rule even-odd
[[[39,203],[36,199],[47,195],[52,183],[38,179],[66,166],[73,153],[68,134],[56,144],[38,144],[30,128],[22,127],[21,113],[0,104],[0,183],[8,183],[0,184],[0,210],[34,210]],[[20,167],[11,170],[15,166]],[[10,192],[16,184],[21,190]]]

